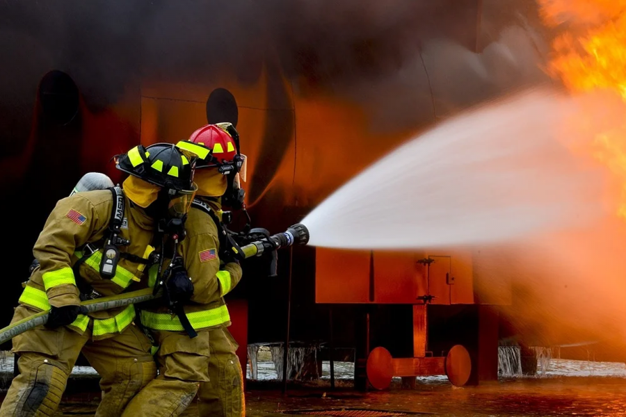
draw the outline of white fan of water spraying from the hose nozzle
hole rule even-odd
[[[603,214],[602,175],[577,160],[563,135],[591,142],[597,131],[572,123],[595,119],[606,122],[602,106],[547,89],[462,113],[371,165],[307,215],[310,245],[441,247],[584,226]]]

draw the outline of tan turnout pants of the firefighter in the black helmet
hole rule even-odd
[[[13,322],[35,312],[20,304]],[[0,416],[52,416],[81,350],[102,377],[104,398],[96,416],[122,415],[131,398],[157,375],[150,340],[130,325],[115,336],[93,341],[90,327],[82,335],[67,327],[40,326],[15,336],[19,375],[11,383]]]

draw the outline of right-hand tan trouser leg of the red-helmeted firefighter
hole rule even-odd
[[[209,330],[211,357],[209,382],[198,391],[198,416],[239,417],[246,415],[243,373],[236,355],[237,343],[226,327]]]

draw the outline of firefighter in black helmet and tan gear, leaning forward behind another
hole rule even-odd
[[[81,300],[141,288],[159,225],[179,224],[195,195],[193,163],[173,145],[134,147],[116,157],[131,174],[122,187],[61,199],[35,243],[38,262],[12,322],[49,310],[49,319],[13,339],[19,375],[0,416],[52,416],[82,351],[102,377],[96,416],[120,416],[157,367],[134,306],[89,313]]]

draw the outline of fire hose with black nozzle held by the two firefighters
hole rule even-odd
[[[254,229],[251,232],[251,236],[264,235],[263,229]],[[254,231],[254,234],[252,232]],[[241,252],[245,258],[251,258],[252,256],[261,256],[268,251],[275,251],[281,247],[289,247],[291,245],[306,245],[309,242],[309,231],[304,224],[294,224],[289,227],[287,231],[273,236],[263,236],[259,240],[255,240],[252,243],[248,243],[241,247]],[[162,297],[163,292],[159,291],[156,295],[152,294],[152,288],[144,288],[143,290],[131,291],[129,293],[122,293],[118,295],[112,295],[110,297],[100,297],[94,300],[88,300],[81,302],[83,311],[81,313],[95,313],[96,311],[103,311],[109,309],[115,309],[118,307],[129,306],[131,304],[139,304],[150,300],[155,300]],[[18,334],[22,334],[27,330],[34,327],[45,325],[48,320],[49,311],[41,311],[33,316],[23,318],[13,325],[8,325],[3,329],[0,329],[0,344],[10,341]]]

